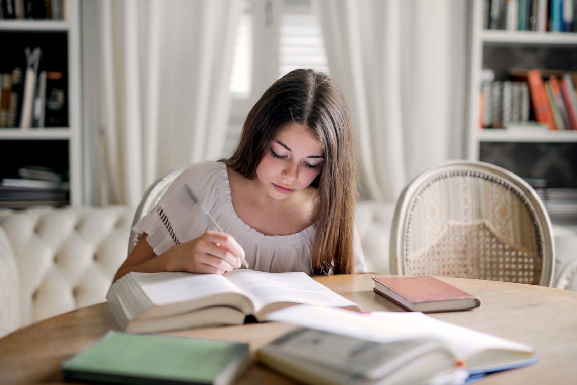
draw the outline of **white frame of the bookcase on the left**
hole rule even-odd
[[[43,159],[46,159],[47,165],[50,165],[53,159],[60,159],[59,161],[62,163],[68,164],[69,203],[80,205],[83,203],[81,190],[83,183],[81,174],[80,3],[78,0],[66,0],[64,4],[66,7],[64,10],[65,20],[0,19],[0,40],[17,36],[17,34],[32,36],[31,40],[35,40],[34,36],[39,36],[46,45],[43,50],[55,49],[65,52],[68,56],[65,74],[66,79],[68,79],[68,92],[66,93],[68,126],[27,129],[0,128],[0,146],[4,149],[3,151],[8,149],[17,152],[11,161],[17,162],[18,165],[16,166],[24,166],[27,163],[27,155],[22,149],[26,148],[26,143],[36,143],[34,151],[38,151],[38,141],[42,141],[42,156],[44,157]],[[55,39],[51,40],[50,35],[53,35]],[[59,46],[62,45],[61,42],[66,42],[65,47]],[[36,42],[31,41],[30,44],[36,44]],[[2,60],[5,61],[6,59],[2,58]],[[42,58],[40,61],[42,62]],[[65,148],[67,151],[52,151],[55,143],[60,144],[58,148],[61,148],[62,144],[66,143]],[[20,151],[14,150],[14,148],[20,149]],[[38,159],[38,154],[35,155],[36,159]],[[14,166],[14,164],[10,166]],[[37,164],[37,166],[43,165]],[[0,173],[2,173],[1,170],[2,166],[0,166]]]

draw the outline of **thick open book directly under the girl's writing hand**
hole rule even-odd
[[[113,283],[106,299],[118,326],[132,332],[242,324],[247,315],[261,321],[295,304],[358,309],[302,271],[130,272]]]

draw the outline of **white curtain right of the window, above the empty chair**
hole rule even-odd
[[[394,202],[464,154],[466,3],[317,0],[329,70],[351,110],[366,198]]]

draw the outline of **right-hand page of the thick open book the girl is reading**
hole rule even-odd
[[[250,297],[256,312],[279,302],[317,306],[356,306],[353,301],[314,281],[305,272],[234,270],[224,274]]]

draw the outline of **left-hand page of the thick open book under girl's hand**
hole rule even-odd
[[[154,305],[190,301],[218,293],[242,293],[220,274],[133,272],[133,279]]]

